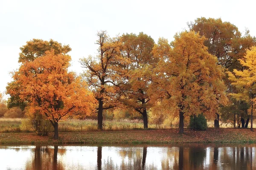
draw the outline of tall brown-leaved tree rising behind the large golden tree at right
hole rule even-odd
[[[204,40],[204,45],[208,48],[208,52],[215,55],[218,65],[222,65],[228,71],[233,71],[234,68],[241,69],[238,59],[242,58],[245,50],[255,45],[256,42],[248,30],[244,36],[241,36],[241,32],[235,25],[223,22],[221,18],[201,17],[197,18],[195,22],[189,23],[188,26],[190,30],[207,38]],[[233,89],[227,79],[225,79],[225,84],[229,86],[228,92],[232,93]],[[219,113],[216,113],[214,125],[219,127]]]

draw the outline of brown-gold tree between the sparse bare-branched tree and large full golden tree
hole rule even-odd
[[[151,107],[151,96],[147,91],[151,82],[151,71],[158,62],[158,57],[154,58],[151,53],[154,40],[141,32],[139,35],[123,34],[121,41],[122,55],[130,59],[123,85],[125,97],[121,101],[128,108],[140,113],[143,116],[144,128],[148,128],[147,109]]]

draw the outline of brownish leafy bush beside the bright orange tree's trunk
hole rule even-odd
[[[49,131],[53,129],[50,121],[41,113],[26,112],[25,116],[29,121],[22,122],[22,129],[32,128],[39,136],[48,136]]]

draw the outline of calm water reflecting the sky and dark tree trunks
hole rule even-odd
[[[0,146],[0,170],[256,170],[256,144]]]

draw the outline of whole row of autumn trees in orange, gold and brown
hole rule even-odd
[[[98,54],[80,59],[84,73],[68,72],[69,45],[33,39],[20,50],[20,68],[7,86],[9,107],[49,119],[58,138],[58,121],[97,113],[102,129],[103,112],[131,110],[143,117],[179,118],[203,113],[207,119],[251,119],[255,98],[256,44],[249,31],[221,19],[198,18],[173,42],[157,43],[141,32],[109,37],[97,34]],[[160,30],[159,30],[160,31]],[[251,110],[248,113],[248,109]],[[249,116],[250,114],[250,116]],[[243,121],[242,121],[243,120]],[[242,123],[245,127],[245,123]]]

